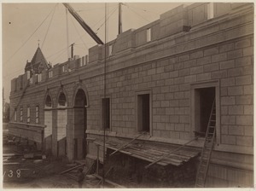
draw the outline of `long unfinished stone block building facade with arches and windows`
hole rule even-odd
[[[207,186],[253,186],[253,3],[179,6],[11,85],[9,132],[70,160],[96,159],[102,124],[108,140],[181,145],[206,132],[215,99]]]

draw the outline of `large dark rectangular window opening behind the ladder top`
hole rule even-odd
[[[215,87],[195,89],[195,136],[206,136],[214,99]]]

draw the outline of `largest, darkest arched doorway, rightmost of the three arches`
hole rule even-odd
[[[79,89],[74,100],[74,159],[84,159],[86,155],[86,96]]]

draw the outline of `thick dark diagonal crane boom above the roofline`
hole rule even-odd
[[[101,40],[101,38],[99,38],[95,32],[92,31],[92,29],[90,28],[90,26],[88,26],[84,20],[79,16],[79,14],[77,14],[77,12],[73,9],[73,7],[70,6],[69,3],[63,3],[63,5],[68,9],[69,13],[73,15],[73,17],[78,20],[79,24],[84,28],[84,30],[86,32],[88,32],[88,34],[90,35],[91,38],[93,38],[96,43],[98,44],[104,44]]]

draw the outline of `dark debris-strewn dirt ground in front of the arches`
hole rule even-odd
[[[37,150],[23,148],[20,152],[20,146],[9,140],[12,137],[8,135],[8,130],[3,130],[3,188],[79,188],[74,177],[60,175],[61,171],[76,164],[68,164],[63,159],[52,159],[50,156],[42,159],[44,153]],[[28,159],[31,154],[32,159]],[[87,176],[83,188],[99,188],[98,182],[96,177]]]

